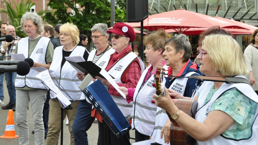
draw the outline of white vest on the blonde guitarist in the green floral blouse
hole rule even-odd
[[[243,75],[238,75],[236,77],[242,77],[245,78]],[[227,90],[230,90],[231,88],[236,88],[238,89],[242,94],[244,94],[246,97],[248,97],[250,100],[258,103],[258,96],[254,92],[253,88],[246,83],[223,83],[221,87],[218,88],[218,90],[213,94],[211,100],[207,102],[205,105],[203,105],[206,96],[211,89],[212,85],[214,82],[211,81],[205,81],[205,86],[203,86],[202,90],[200,91],[200,95],[198,96],[198,107],[197,107],[197,113],[195,115],[195,119],[199,122],[203,122],[207,115],[207,109],[210,110],[212,104],[218,99],[219,96],[221,96],[222,93],[224,93]],[[251,91],[252,90],[252,91]],[[224,138],[222,135],[219,135],[217,137],[212,138],[211,140],[205,141],[205,142],[198,142],[198,145],[243,145],[243,144],[248,144],[248,145],[257,145],[258,141],[258,107],[256,108],[256,113],[255,113],[255,120],[254,124],[252,126],[252,136],[249,139],[243,139],[243,140],[233,140],[230,138]],[[233,128],[236,124],[231,125],[229,128]]]

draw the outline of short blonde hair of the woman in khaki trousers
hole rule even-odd
[[[79,29],[76,25],[73,25],[73,23],[65,23],[62,26],[60,26],[59,29],[60,32],[68,32],[72,36],[73,44],[77,45],[80,41],[79,38]]]

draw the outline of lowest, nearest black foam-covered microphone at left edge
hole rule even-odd
[[[17,63],[17,65],[0,66],[0,74],[5,72],[17,72],[18,75],[25,76],[30,72],[30,65],[25,61],[20,61]]]

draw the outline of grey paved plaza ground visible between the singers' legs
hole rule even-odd
[[[9,103],[9,95],[6,87],[6,81],[4,80],[4,105],[7,105]],[[6,121],[7,121],[7,116],[8,116],[8,110],[2,109],[3,105],[0,105],[0,136],[4,135],[4,131],[6,128]],[[14,116],[14,124],[15,124],[15,134],[18,135],[17,131],[17,122],[16,122],[16,115],[15,111],[13,112]],[[66,119],[64,120],[64,126],[63,126],[63,145],[69,145],[70,144],[70,133],[68,131],[68,125],[65,124]],[[31,107],[29,107],[29,112],[28,112],[28,125],[29,125],[29,142],[30,145],[35,144],[34,143],[34,134],[31,133],[31,131],[34,130],[33,122],[32,122],[32,115],[31,115]],[[97,144],[98,141],[98,123],[94,121],[90,129],[87,131],[88,133],[88,140],[89,140],[89,145],[95,145]],[[132,138],[135,138],[135,131],[131,130],[130,131],[130,136]],[[131,144],[135,142],[135,140],[130,139]],[[0,144],[1,145],[17,145],[19,144],[19,138],[0,138]],[[45,143],[46,144],[46,139]],[[59,137],[59,142],[60,144],[60,137]]]

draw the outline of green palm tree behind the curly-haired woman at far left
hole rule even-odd
[[[21,31],[20,21],[21,21],[22,15],[27,11],[30,12],[30,8],[33,7],[35,3],[32,3],[32,0],[27,0],[26,2],[25,0],[21,0],[19,5],[17,5],[17,3],[13,1],[16,7],[16,12],[15,12],[15,10],[12,8],[12,5],[10,3],[6,2],[5,0],[4,2],[6,5],[6,10],[0,9],[0,12],[6,13],[8,15],[10,20],[10,25],[13,25],[15,27],[17,36],[21,38],[27,37],[27,35],[23,31]],[[44,13],[45,13],[44,11],[39,11],[37,14],[43,15]]]

